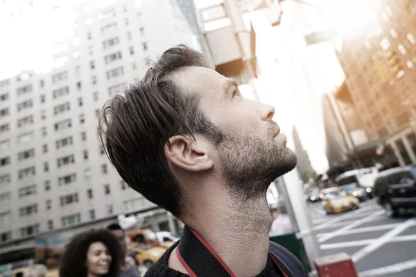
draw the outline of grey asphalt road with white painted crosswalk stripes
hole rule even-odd
[[[416,276],[416,217],[389,218],[374,200],[356,211],[326,215],[320,202],[309,203],[322,256],[345,252],[358,276]]]

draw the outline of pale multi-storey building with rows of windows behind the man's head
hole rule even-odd
[[[175,44],[200,48],[177,1],[85,1],[48,73],[0,81],[0,246],[154,207],[97,139],[101,107]],[[188,15],[189,16],[189,15]]]

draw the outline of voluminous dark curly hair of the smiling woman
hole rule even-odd
[[[79,233],[67,244],[60,262],[60,277],[87,277],[87,252],[94,242],[103,242],[110,251],[112,258],[106,277],[117,277],[120,271],[120,262],[123,258],[119,240],[107,230],[92,230]]]

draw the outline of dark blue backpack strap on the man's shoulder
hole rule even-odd
[[[269,251],[272,257],[279,264],[279,267],[288,277],[305,277],[305,269],[299,259],[288,249],[276,242],[269,243]]]

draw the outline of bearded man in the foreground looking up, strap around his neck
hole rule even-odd
[[[146,276],[304,276],[269,244],[266,190],[296,166],[274,107],[241,96],[202,53],[168,49],[106,103],[100,139],[131,188],[185,224]]]

